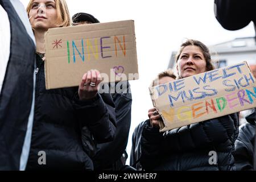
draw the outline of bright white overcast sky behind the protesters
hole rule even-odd
[[[20,0],[27,6],[28,0]],[[185,38],[197,39],[211,46],[235,38],[255,36],[253,24],[239,31],[224,30],[214,16],[213,0],[66,0],[71,16],[85,12],[100,22],[133,19],[137,42],[139,80],[130,81],[133,96],[130,137],[127,153],[130,156],[134,128],[147,119],[151,109],[148,85],[167,69],[172,51]],[[242,60],[241,60],[242,61]]]

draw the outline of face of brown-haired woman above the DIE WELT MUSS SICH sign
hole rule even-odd
[[[206,60],[198,46],[186,46],[177,61],[177,71],[181,78],[206,71]]]

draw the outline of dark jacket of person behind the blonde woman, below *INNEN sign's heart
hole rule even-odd
[[[120,86],[121,85],[121,86]],[[96,170],[119,171],[125,166],[126,145],[131,125],[131,91],[128,81],[110,84],[110,89],[115,88],[112,97],[115,104],[117,127],[113,142],[97,145],[97,152],[93,158]]]

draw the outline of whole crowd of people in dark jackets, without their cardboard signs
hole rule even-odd
[[[233,113],[161,133],[160,114],[150,106],[148,119],[134,130],[126,165],[129,81],[122,93],[99,93],[97,69],[75,87],[46,90],[44,81],[44,33],[100,21],[87,13],[71,18],[65,0],[30,0],[27,12],[19,1],[0,0],[0,15],[0,170],[254,169],[255,110],[242,126]],[[175,61],[176,71],[159,73],[151,86],[214,69],[208,47],[198,40],[181,44]],[[46,163],[39,162],[42,151]],[[209,163],[209,151],[217,163]]]

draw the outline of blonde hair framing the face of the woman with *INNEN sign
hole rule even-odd
[[[27,5],[27,14],[29,15],[30,10],[32,9],[32,4],[35,0],[30,0]],[[68,27],[71,26],[71,18],[68,11],[68,6],[65,0],[54,0],[56,3],[57,10],[57,21],[56,24],[59,27]]]

